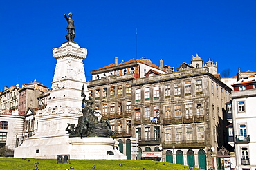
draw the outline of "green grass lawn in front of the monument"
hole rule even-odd
[[[28,161],[30,160],[30,161]],[[22,160],[21,158],[0,158],[0,169],[15,169],[15,170],[33,170],[35,162],[39,162],[38,169],[65,170],[73,166],[76,170],[91,170],[95,164],[95,170],[112,170],[112,169],[140,169],[143,170],[161,170],[161,169],[190,169],[184,165],[171,164],[167,162],[158,162],[152,160],[70,160],[70,164],[57,164],[57,160],[48,159],[30,159]],[[157,163],[157,164],[156,164]],[[119,164],[122,164],[120,166]],[[70,169],[71,170],[71,169]]]

